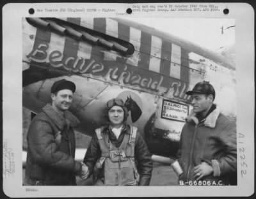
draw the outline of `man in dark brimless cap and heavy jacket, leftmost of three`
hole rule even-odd
[[[51,87],[52,103],[31,121],[24,185],[76,185],[76,175],[88,168],[74,160],[76,139],[73,128],[78,119],[68,111],[76,90],[65,79]]]

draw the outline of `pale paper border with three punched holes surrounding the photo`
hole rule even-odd
[[[148,3],[150,4],[150,3]],[[170,4],[170,3],[159,3]],[[178,4],[178,3],[172,3]],[[184,3],[179,3],[184,4]],[[204,4],[204,3],[186,3]],[[210,3],[207,3],[210,4]],[[204,17],[235,18],[236,20],[236,75],[237,75],[237,186],[29,186],[37,191],[26,191],[22,186],[22,17],[122,17],[115,13],[38,13],[29,15],[29,8],[115,8],[125,13],[134,4],[92,3],[11,3],[3,7],[3,147],[13,153],[15,172],[5,177],[3,190],[10,197],[104,197],[104,196],[250,196],[254,192],[254,11],[246,3],[211,3],[218,12],[133,13],[131,17]],[[230,13],[223,14],[228,8]],[[125,15],[124,17],[130,17]],[[230,99],[232,100],[232,99]],[[246,175],[241,177],[241,147]],[[3,154],[4,158],[4,154]],[[4,166],[4,162],[3,162]]]

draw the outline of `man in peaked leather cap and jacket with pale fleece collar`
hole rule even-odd
[[[180,137],[180,185],[228,185],[237,175],[236,126],[213,104],[214,87],[199,82],[192,91],[193,110]]]

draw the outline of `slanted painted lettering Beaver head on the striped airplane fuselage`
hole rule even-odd
[[[140,70],[135,66],[127,66],[127,64],[117,61],[100,60],[100,62],[100,57],[97,59],[98,61],[95,61],[95,59],[65,55],[59,50],[52,50],[49,53],[48,43],[38,43],[26,57],[36,63],[50,63],[51,66],[60,68],[60,70],[80,74],[87,73],[93,75],[93,77],[109,77],[119,84],[138,85],[151,91],[157,92],[159,87],[165,87],[164,94],[174,89],[173,96],[180,99],[188,99],[188,96],[184,94],[188,89],[188,85],[185,82],[152,71]]]

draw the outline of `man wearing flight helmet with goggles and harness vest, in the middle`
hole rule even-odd
[[[148,186],[152,161],[137,128],[127,124],[128,113],[120,98],[107,103],[108,125],[95,130],[84,163],[98,186]]]

